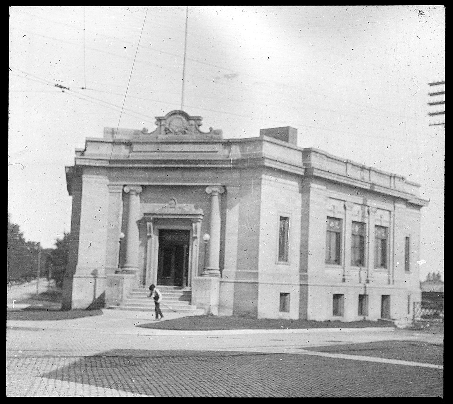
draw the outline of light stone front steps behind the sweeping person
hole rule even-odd
[[[196,306],[190,304],[192,292],[188,288],[180,288],[178,286],[156,286],[162,292],[162,302],[160,309],[165,313],[182,313],[187,315],[204,314],[203,309],[197,309]],[[134,288],[129,295],[117,306],[111,306],[110,309],[120,310],[137,310],[137,311],[153,311],[154,299],[149,296],[149,290],[146,288]]]

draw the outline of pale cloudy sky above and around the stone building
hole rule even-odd
[[[10,7],[8,211],[27,240],[70,230],[64,166],[85,138],[180,109],[186,7],[146,10]],[[183,109],[224,138],[292,126],[300,147],[421,184],[424,278],[443,273],[444,126],[427,94],[444,67],[442,5],[190,6]]]

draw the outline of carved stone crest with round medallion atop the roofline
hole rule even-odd
[[[158,126],[154,132],[147,133],[144,128],[143,134],[165,140],[202,140],[222,139],[222,131],[209,128],[209,132],[202,132],[201,116],[189,116],[186,112],[175,110],[165,116],[156,116],[155,124]]]

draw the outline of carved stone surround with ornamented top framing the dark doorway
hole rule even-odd
[[[144,282],[148,286],[157,283],[159,265],[159,230],[189,230],[189,260],[188,286],[192,285],[192,278],[198,275],[199,239],[203,210],[193,204],[178,204],[175,198],[167,203],[149,204],[142,221],[146,225],[147,252]],[[175,220],[176,219],[176,220]]]

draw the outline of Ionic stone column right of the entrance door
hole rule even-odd
[[[202,276],[220,276],[220,200],[219,195],[225,192],[223,186],[206,187],[207,194],[211,195],[211,221],[209,225],[208,265],[204,268]]]

